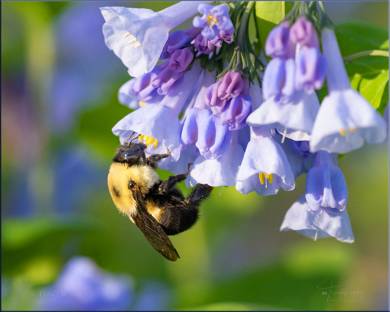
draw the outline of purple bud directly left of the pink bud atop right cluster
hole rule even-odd
[[[266,39],[266,55],[270,57],[289,57],[294,50],[289,40],[288,23],[282,23],[273,28]]]

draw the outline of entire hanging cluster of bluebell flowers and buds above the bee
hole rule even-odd
[[[296,3],[267,37],[266,66],[248,35],[253,11],[254,2],[101,8],[106,45],[135,77],[119,89],[119,101],[136,110],[112,131],[122,143],[140,135],[147,155],[168,149],[162,169],[179,174],[192,163],[187,186],[267,196],[293,190],[307,172],[305,193],[280,230],[352,243],[338,154],[383,142],[385,121],[351,89],[323,10],[319,18],[316,5]],[[198,12],[192,27],[170,32]],[[320,105],[315,90],[325,80]]]

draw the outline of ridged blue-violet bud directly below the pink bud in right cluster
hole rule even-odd
[[[295,87],[311,94],[321,89],[325,80],[326,62],[317,48],[303,47],[296,59]]]

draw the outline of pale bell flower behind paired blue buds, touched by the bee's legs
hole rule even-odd
[[[191,172],[186,180],[186,186],[195,186],[197,183],[210,186],[236,185],[244,150],[238,143],[238,131],[232,132],[230,144],[220,157],[205,160],[203,156],[198,156],[195,159],[190,167]]]

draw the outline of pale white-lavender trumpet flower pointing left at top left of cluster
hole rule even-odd
[[[156,65],[168,33],[197,12],[199,1],[181,1],[159,12],[150,9],[101,7],[105,43],[130,76],[149,73]]]

